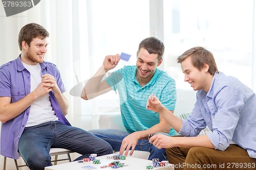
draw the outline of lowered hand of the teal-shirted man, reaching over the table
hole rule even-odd
[[[126,150],[124,153],[124,156],[127,156],[130,148],[132,147],[130,156],[133,155],[133,151],[136,147],[136,144],[138,143],[138,140],[139,140],[139,136],[137,135],[137,132],[134,132],[134,133],[126,136],[125,138],[123,138],[119,153],[123,154],[124,150]]]

